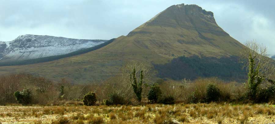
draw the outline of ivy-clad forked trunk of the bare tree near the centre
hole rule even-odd
[[[136,94],[137,100],[139,102],[141,102],[142,81],[143,81],[143,70],[140,71],[140,79],[139,79],[139,83],[137,83],[136,67],[134,67],[132,70],[132,73],[130,74],[130,83],[132,85],[133,91]]]

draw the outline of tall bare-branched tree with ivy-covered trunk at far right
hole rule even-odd
[[[248,69],[247,97],[255,100],[260,84],[266,79],[269,81],[275,74],[273,60],[267,57],[266,46],[258,44],[255,40],[245,43],[241,57],[241,62]]]

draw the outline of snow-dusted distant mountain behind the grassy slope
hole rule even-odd
[[[47,35],[20,35],[11,42],[0,42],[0,62],[63,55],[97,46],[106,41],[71,39]]]

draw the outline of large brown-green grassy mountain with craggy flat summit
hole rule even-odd
[[[46,63],[0,67],[0,74],[24,72],[54,80],[67,78],[75,83],[86,83],[118,75],[120,68],[128,62],[144,63],[153,72],[162,73],[160,70],[163,69],[155,67],[163,68],[168,63],[177,65],[182,62],[174,60],[178,57],[197,56],[178,64],[178,69],[185,71],[191,68],[194,73],[201,71],[200,75],[213,76],[205,71],[206,68],[197,70],[192,67],[204,64],[197,63],[203,57],[203,60],[211,60],[207,64],[212,68],[219,66],[219,71],[227,71],[223,68],[225,64],[221,64],[225,59],[217,59],[227,57],[227,60],[236,60],[231,58],[239,56],[242,47],[240,42],[218,26],[212,12],[197,5],[180,4],[170,6],[127,36],[120,36],[100,49]],[[223,76],[236,75],[232,73],[228,71]],[[161,78],[166,77],[170,78]]]

